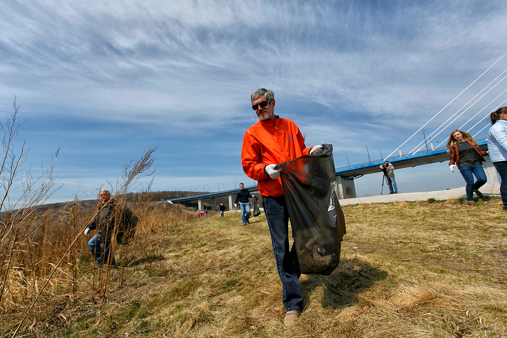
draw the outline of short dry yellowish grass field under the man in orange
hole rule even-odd
[[[62,268],[75,278],[31,310],[9,298],[0,335],[507,337],[507,214],[498,198],[460,202],[344,207],[340,266],[301,277],[305,309],[289,329],[264,214],[243,227],[239,212],[145,208],[132,251],[117,249],[122,268],[94,270],[83,238],[79,269]]]

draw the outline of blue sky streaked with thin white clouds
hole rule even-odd
[[[51,201],[116,182],[124,164],[156,145],[153,190],[250,185],[241,142],[257,121],[249,96],[261,87],[274,91],[276,114],[298,124],[307,146],[333,144],[336,167],[346,157],[367,162],[367,145],[380,159],[507,52],[504,1],[0,0],[0,8],[0,117],[12,114],[16,95],[26,120],[18,140],[31,145],[34,167],[60,148],[55,171],[64,186]],[[426,136],[506,68],[507,57]],[[505,88],[434,145],[492,111]],[[421,131],[403,153],[422,140]],[[396,178],[401,192],[464,186],[446,163]],[[380,173],[361,177],[356,190],[377,195],[381,182]]]

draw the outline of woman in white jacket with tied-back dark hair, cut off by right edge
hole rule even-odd
[[[507,107],[490,114],[491,128],[488,133],[489,158],[500,174],[500,196],[503,210],[507,210]]]

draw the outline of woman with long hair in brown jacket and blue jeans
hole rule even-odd
[[[482,167],[482,162],[486,161],[483,156],[487,152],[479,148],[472,135],[459,129],[453,130],[449,136],[447,150],[451,153],[449,169],[454,172],[454,167],[458,167],[466,182],[467,204],[475,205],[474,193],[481,198],[484,197],[479,188],[487,181],[486,173]],[[473,175],[477,178],[475,183]]]

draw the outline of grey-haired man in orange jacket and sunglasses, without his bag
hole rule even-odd
[[[275,96],[272,91],[261,88],[250,98],[259,122],[245,132],[241,164],[245,174],[258,181],[257,187],[263,197],[262,205],[271,234],[276,269],[282,282],[282,303],[287,311],[283,323],[288,327],[296,322],[303,309],[299,285],[301,271],[294,245],[289,250],[289,217],[279,178],[281,169],[274,167],[278,163],[308,155],[322,146],[305,147],[298,126],[291,120],[275,116]]]

